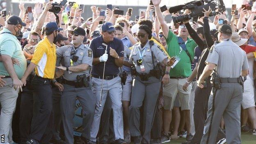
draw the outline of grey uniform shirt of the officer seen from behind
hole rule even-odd
[[[231,39],[213,45],[206,59],[208,62],[217,65],[215,70],[220,78],[238,78],[242,70],[249,69],[245,51]]]

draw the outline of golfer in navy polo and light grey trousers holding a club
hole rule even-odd
[[[97,98],[94,121],[91,126],[91,141],[96,142],[101,113],[105,104],[107,93],[112,100],[114,135],[117,144],[123,141],[123,108],[122,108],[122,86],[119,77],[119,67],[123,66],[123,42],[114,38],[115,29],[112,23],[103,23],[101,37],[93,39],[90,48],[93,52],[92,66],[92,90]],[[103,44],[104,43],[104,44]],[[107,47],[105,46],[107,45]],[[105,50],[107,49],[107,53]],[[105,62],[105,71],[104,71]],[[103,77],[104,71],[104,77]],[[101,84],[103,82],[102,107],[99,106],[101,96]]]

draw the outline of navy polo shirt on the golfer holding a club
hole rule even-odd
[[[90,43],[90,48],[92,50],[94,57],[101,57],[105,53],[105,48],[102,43],[105,43],[103,41],[103,36],[94,38]],[[107,62],[105,65],[105,75],[104,76],[111,76],[111,75],[117,75],[119,73],[119,67],[114,62],[114,57],[110,56],[110,47],[116,50],[119,57],[123,57],[124,54],[124,48],[123,48],[123,42],[120,39],[114,38],[113,41],[107,44]],[[92,75],[98,75],[103,76],[103,69],[104,69],[104,62],[100,62],[98,64],[95,64],[92,66]]]

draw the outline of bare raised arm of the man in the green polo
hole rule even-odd
[[[165,37],[168,37],[169,27],[165,23],[165,18],[162,15],[162,12],[161,12],[160,7],[159,7],[159,4],[160,4],[161,0],[152,0],[152,2],[155,6],[155,15],[158,18],[158,21],[159,21],[160,26],[162,28],[163,34],[164,34]]]

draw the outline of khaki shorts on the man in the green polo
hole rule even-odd
[[[174,101],[178,94],[178,101],[181,105],[181,110],[190,110],[190,93],[191,85],[187,87],[187,91],[182,89],[183,85],[187,81],[186,78],[183,79],[169,79],[169,83],[164,86],[164,109],[172,110],[174,107]]]

